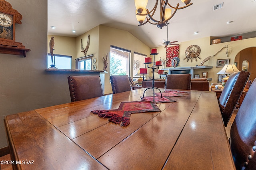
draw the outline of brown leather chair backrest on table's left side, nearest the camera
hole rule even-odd
[[[98,75],[68,76],[68,86],[72,102],[104,95]]]

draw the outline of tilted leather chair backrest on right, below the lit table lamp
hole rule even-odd
[[[238,71],[230,75],[220,95],[219,106],[225,127],[242,95],[244,86],[250,76],[250,72]]]

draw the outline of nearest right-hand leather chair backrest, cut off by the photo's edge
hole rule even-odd
[[[256,169],[255,94],[256,79],[250,86],[230,129],[230,148],[237,170]]]

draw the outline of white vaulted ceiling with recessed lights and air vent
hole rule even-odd
[[[151,10],[155,0],[148,0]],[[168,40],[184,42],[198,38],[233,36],[256,31],[256,0],[191,0],[193,5],[177,10],[169,21]],[[224,2],[224,8],[213,6]],[[169,0],[172,6],[180,0]],[[159,5],[158,5],[159,6]],[[159,8],[159,7],[158,7]],[[134,0],[48,0],[48,34],[77,37],[104,25],[127,30],[148,47],[161,45],[167,27],[138,26]],[[160,12],[156,11],[155,16]],[[159,20],[159,17],[156,17]],[[226,22],[232,21],[230,24]],[[55,26],[56,29],[51,29]],[[75,33],[72,30],[76,30]],[[194,32],[199,32],[194,34]],[[254,35],[256,37],[256,35]]]

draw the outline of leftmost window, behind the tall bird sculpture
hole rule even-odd
[[[53,60],[58,69],[71,69],[72,65],[72,56],[69,55],[60,55],[54,54]],[[52,64],[52,57],[51,54],[48,53],[47,55],[47,68],[51,67]]]

